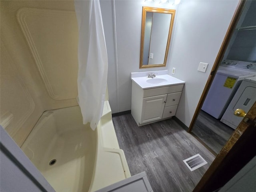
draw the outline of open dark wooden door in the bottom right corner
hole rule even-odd
[[[242,118],[241,118],[242,119]],[[193,192],[221,188],[256,156],[256,102],[226,142]]]

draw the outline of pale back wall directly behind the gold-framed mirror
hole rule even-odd
[[[133,1],[116,0],[114,1],[114,5],[115,5],[115,13],[116,13],[115,15],[116,15],[118,102],[117,102],[117,106],[114,106],[114,103],[110,103],[113,113],[122,112],[122,111],[131,109],[131,95],[132,95],[132,81],[130,79],[131,72],[167,69],[167,66],[159,67],[159,68],[139,69],[142,6],[176,9],[176,6],[172,6],[172,4],[159,4],[159,3],[153,3],[153,2],[147,3],[147,2],[144,2],[143,0],[133,0]],[[175,26],[175,23],[174,23],[174,26]],[[116,70],[116,69],[112,68],[109,70]],[[109,90],[109,91],[112,91],[112,90]],[[117,108],[117,111],[113,110],[114,108]]]

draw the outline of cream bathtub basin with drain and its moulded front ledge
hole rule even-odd
[[[130,177],[108,101],[95,131],[82,124],[79,106],[44,112],[21,148],[57,192],[95,191]]]

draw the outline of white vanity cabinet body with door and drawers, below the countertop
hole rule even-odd
[[[132,82],[131,113],[138,126],[175,116],[183,85],[143,90]]]

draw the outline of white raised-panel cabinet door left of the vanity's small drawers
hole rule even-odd
[[[162,119],[167,94],[143,98],[140,124]]]

